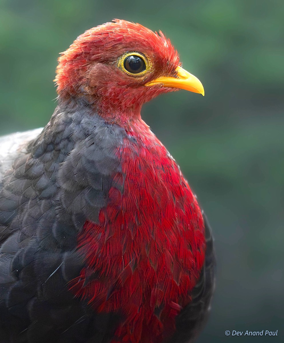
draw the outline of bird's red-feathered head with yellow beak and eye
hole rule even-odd
[[[162,32],[124,20],[86,31],[58,61],[59,96],[87,101],[110,122],[139,116],[143,103],[161,93],[185,89],[204,95]]]

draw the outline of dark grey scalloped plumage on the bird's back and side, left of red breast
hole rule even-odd
[[[0,139],[0,342],[107,342],[117,317],[68,286],[84,265],[78,232],[106,205],[125,133],[72,105],[40,131]]]

